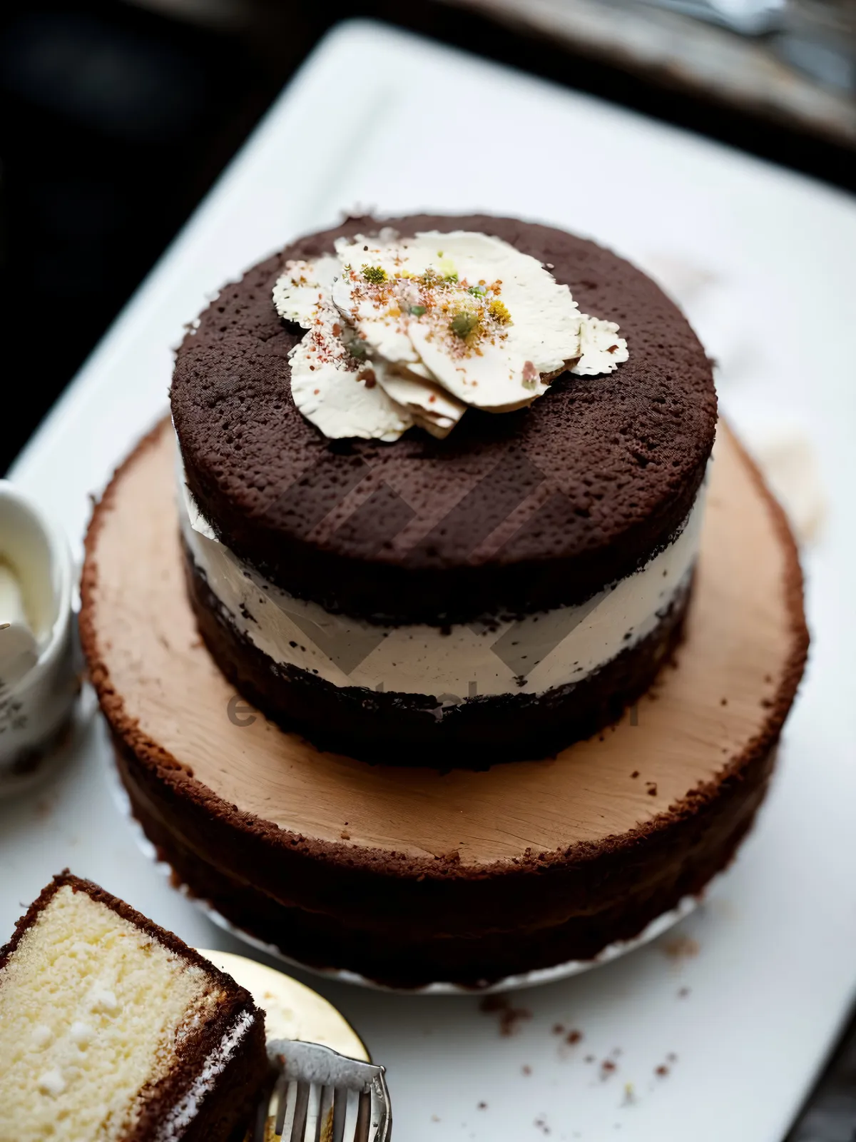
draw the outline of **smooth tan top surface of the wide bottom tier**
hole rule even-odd
[[[243,702],[185,595],[168,423],[126,463],[89,539],[90,645],[113,709],[229,806],[304,837],[490,864],[644,825],[784,717],[805,627],[784,516],[720,425],[687,637],[620,724],[554,758],[439,773],[320,753]],[[798,676],[798,675],[797,675]],[[780,713],[781,711],[781,713]],[[490,763],[490,757],[484,758]]]

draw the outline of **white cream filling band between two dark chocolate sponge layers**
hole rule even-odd
[[[656,626],[686,587],[701,539],[704,489],[684,528],[641,570],[579,606],[519,620],[385,627],[294,598],[221,544],[179,474],[181,532],[235,627],[281,666],[336,686],[434,695],[454,706],[490,694],[541,694],[579,682]]]

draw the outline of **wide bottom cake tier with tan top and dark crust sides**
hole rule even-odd
[[[808,636],[784,516],[727,431],[675,662],[600,735],[483,772],[320,753],[235,694],[187,602],[172,450],[163,424],[96,509],[81,633],[135,814],[234,924],[307,964],[477,984],[631,939],[732,859]]]

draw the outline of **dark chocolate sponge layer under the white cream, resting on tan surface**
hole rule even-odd
[[[211,657],[273,722],[318,749],[375,764],[444,770],[548,757],[615,722],[678,645],[691,597],[689,589],[683,590],[648,635],[580,682],[542,694],[470,698],[438,718],[433,695],[337,686],[280,666],[237,629],[186,547],[185,572]]]

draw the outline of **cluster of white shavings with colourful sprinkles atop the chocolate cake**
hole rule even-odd
[[[581,314],[530,255],[486,234],[425,232],[336,241],[291,262],[281,316],[308,330],[291,353],[300,412],[326,436],[445,436],[468,407],[507,412],[566,368],[612,372],[628,359],[614,322]]]

